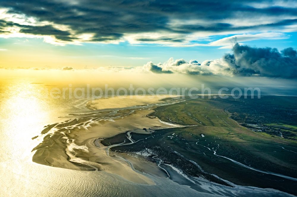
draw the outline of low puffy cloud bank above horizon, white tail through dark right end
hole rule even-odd
[[[173,58],[164,64],[148,62],[143,69],[154,73],[297,78],[297,51],[293,48],[279,52],[275,48],[240,46],[236,43],[232,51],[233,54],[225,54],[221,59],[202,63]]]

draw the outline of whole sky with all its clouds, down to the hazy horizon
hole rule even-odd
[[[297,78],[296,1],[0,1],[0,67]]]

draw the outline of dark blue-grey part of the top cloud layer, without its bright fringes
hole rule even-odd
[[[271,1],[262,1],[269,4]],[[189,34],[194,32],[221,32],[235,30],[254,30],[261,27],[275,28],[296,24],[297,9],[289,7],[270,6],[264,8],[252,7],[251,3],[261,1],[251,0],[173,0],[173,1],[20,1],[2,0],[0,7],[10,9],[10,13],[26,14],[40,21],[48,21],[58,25],[67,25],[75,31],[75,35],[92,33],[93,41],[113,41],[122,38],[127,33],[169,32]],[[261,25],[234,26],[220,20],[250,19],[255,17],[290,17],[279,21],[267,22]],[[173,20],[200,20],[201,24],[184,24]],[[15,24],[17,25],[17,24]],[[63,41],[71,41],[73,35],[59,31],[53,27],[44,28],[22,27],[23,33],[38,35],[54,35]],[[3,30],[1,30],[3,31]],[[143,40],[141,40],[143,39]],[[139,38],[138,41],[172,41],[183,42],[181,38]]]

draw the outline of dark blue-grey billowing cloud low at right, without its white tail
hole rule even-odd
[[[287,48],[281,51],[273,48],[233,47],[233,54],[226,54],[223,59],[228,62],[234,75],[259,75],[263,77],[297,77],[297,51]]]

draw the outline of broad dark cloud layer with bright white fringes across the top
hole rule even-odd
[[[1,0],[0,35],[39,36],[55,44],[120,41],[189,44],[210,35],[296,30],[295,3]]]

